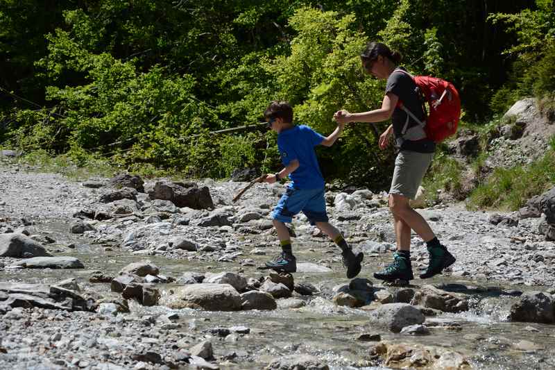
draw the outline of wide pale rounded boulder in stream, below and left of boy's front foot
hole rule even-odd
[[[241,296],[229,284],[191,284],[162,297],[160,304],[169,308],[200,308],[207,311],[241,310]]]

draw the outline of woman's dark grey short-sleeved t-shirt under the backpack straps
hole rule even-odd
[[[416,92],[416,83],[414,83],[413,79],[408,74],[396,72],[397,69],[405,70],[402,67],[398,67],[389,75],[386,84],[386,94],[391,92],[397,95],[405,108],[410,110],[420,121],[424,121],[426,119],[426,114],[422,109],[422,102]],[[407,131],[403,133],[402,131],[405,124],[407,124],[407,119]],[[395,141],[398,143],[398,146],[400,146],[400,149],[408,149],[420,153],[434,152],[434,142],[427,139],[422,126],[407,115],[404,110],[395,107],[391,121],[393,123],[393,133],[395,133]]]

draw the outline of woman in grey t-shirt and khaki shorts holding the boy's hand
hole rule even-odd
[[[416,83],[404,68],[398,67],[401,58],[400,53],[391,51],[385,44],[368,43],[361,53],[364,70],[376,78],[387,80],[382,108],[360,113],[339,110],[335,113],[334,119],[339,123],[348,124],[379,122],[392,118],[393,123],[379,136],[378,144],[380,149],[385,149],[393,135],[395,147],[398,149],[389,190],[389,209],[395,224],[397,251],[393,255],[393,263],[383,271],[375,273],[374,277],[380,280],[408,281],[414,278],[410,258],[411,229],[426,242],[429,252],[428,267],[420,274],[420,278],[431,278],[440,274],[445,267],[455,262],[455,258],[439,242],[426,220],[409,205],[409,200],[416,196],[422,178],[434,158],[435,144],[426,137],[424,128],[418,121],[406,112],[409,110],[420,121],[426,119],[416,92]],[[401,102],[404,108],[401,108]]]

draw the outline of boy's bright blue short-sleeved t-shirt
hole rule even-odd
[[[319,189],[324,187],[324,178],[318,165],[314,146],[325,139],[309,126],[293,126],[278,135],[278,149],[284,166],[292,160],[299,161],[299,167],[289,178],[296,189]]]

